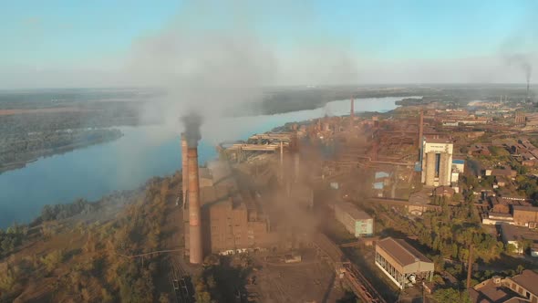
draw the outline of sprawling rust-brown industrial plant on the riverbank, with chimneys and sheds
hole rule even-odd
[[[457,209],[465,204],[462,195],[472,193],[468,180],[473,173],[479,180],[481,173],[482,180],[494,176],[493,189],[506,188],[514,175],[502,172],[510,170],[472,171],[473,156],[495,150],[469,142],[483,138],[491,128],[532,130],[519,108],[512,110],[512,117],[496,118],[494,125],[487,114],[491,103],[485,108],[475,105],[471,114],[466,109],[443,108],[438,100],[401,102],[403,106],[390,114],[357,115],[350,99],[348,115],[292,122],[245,141],[223,142],[216,147],[219,160],[202,168],[195,164],[196,147],[183,135],[184,256],[191,265],[202,264],[208,256],[247,255],[261,264],[291,266],[304,263],[314,249],[316,262],[326,262],[339,283],[350,287],[357,298],[390,301],[393,297],[387,291],[394,286],[409,296],[417,289],[422,294],[417,296],[431,296],[438,269],[417,247],[430,244],[417,237],[398,238],[386,231],[387,226]],[[462,147],[467,144],[471,149]],[[533,166],[529,141],[506,150],[524,154],[524,165]],[[506,246],[515,246],[520,254],[529,247],[529,242],[522,246],[518,232],[511,228],[530,228],[520,235],[538,240],[533,231],[538,212],[532,204],[506,193],[474,194],[485,201],[506,201],[493,203],[491,209],[477,204],[475,210],[482,226],[499,226],[500,241]],[[355,257],[355,247],[367,252],[370,246],[374,252],[367,258],[371,266],[365,273],[350,257]],[[474,254],[485,254],[476,249]],[[471,254],[465,257],[476,257]],[[472,277],[472,266],[466,269]],[[274,274],[268,267],[258,272],[261,281],[264,275]],[[374,286],[368,281],[371,275],[389,283]],[[264,292],[255,286],[249,289],[256,296]]]

